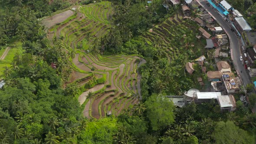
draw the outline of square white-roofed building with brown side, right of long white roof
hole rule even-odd
[[[233,95],[221,95],[218,96],[218,103],[221,111],[235,111],[236,110],[236,99]]]

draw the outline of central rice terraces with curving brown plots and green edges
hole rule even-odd
[[[140,76],[136,70],[144,62],[136,56],[93,56],[88,52],[77,51],[73,59],[75,74],[72,76],[82,74],[80,79],[86,81],[76,78],[82,87],[88,84],[92,75],[97,79],[96,85],[87,88],[79,96],[80,104],[85,103],[84,116],[101,118],[106,116],[107,111],[118,115],[122,109],[137,103],[140,89],[137,80]],[[93,92],[94,96],[86,101],[88,92]]]

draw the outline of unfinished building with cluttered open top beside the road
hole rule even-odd
[[[225,88],[226,93],[233,94],[238,93],[240,91],[237,79],[233,72],[225,72],[221,76],[221,82],[223,87]]]

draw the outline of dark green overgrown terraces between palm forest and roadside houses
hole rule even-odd
[[[194,43],[198,41],[196,35],[199,34],[197,30],[199,26],[192,20],[181,19],[181,16],[176,14],[160,25],[154,26],[152,32],[142,35],[142,38],[147,43],[154,44],[160,40],[160,48],[165,50],[169,61],[177,59],[179,54],[186,52],[186,44],[194,45],[195,47],[200,45],[200,43]],[[185,42],[185,39],[190,43]]]

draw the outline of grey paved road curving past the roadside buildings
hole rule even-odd
[[[247,70],[244,68],[243,63],[240,61],[240,42],[236,33],[231,31],[231,26],[230,23],[226,22],[222,16],[218,12],[216,12],[212,6],[210,7],[207,6],[207,1],[206,0],[197,0],[199,3],[203,5],[203,7],[213,16],[213,18],[222,26],[222,28],[225,30],[227,35],[230,38],[231,42],[231,50],[232,50],[232,55],[233,55],[233,62],[236,65],[236,72],[239,72],[240,78],[243,80],[243,85],[246,86],[247,84],[251,83],[249,74],[247,73]],[[242,73],[241,73],[242,71]]]

